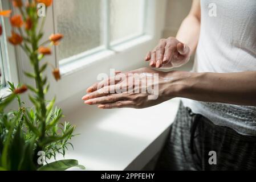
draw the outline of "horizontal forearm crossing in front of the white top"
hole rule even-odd
[[[256,106],[256,72],[169,73],[176,97],[204,102]]]

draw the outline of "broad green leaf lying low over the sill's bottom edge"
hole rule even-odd
[[[79,165],[77,160],[68,159],[46,164],[45,166],[38,168],[37,171],[65,171],[71,167],[79,167],[83,170],[86,169],[84,166]]]

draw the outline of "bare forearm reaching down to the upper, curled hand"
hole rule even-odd
[[[190,48],[190,55],[192,55],[196,51],[199,35],[200,20],[194,15],[188,15],[183,20],[176,38]]]

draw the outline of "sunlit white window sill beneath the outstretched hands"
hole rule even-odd
[[[65,120],[74,121],[80,135],[72,139],[75,150],[68,151],[66,159],[79,160],[87,170],[142,169],[161,150],[179,101],[140,110],[70,110]]]

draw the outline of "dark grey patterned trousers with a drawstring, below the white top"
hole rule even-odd
[[[181,103],[156,170],[256,170],[256,137],[214,125]]]

